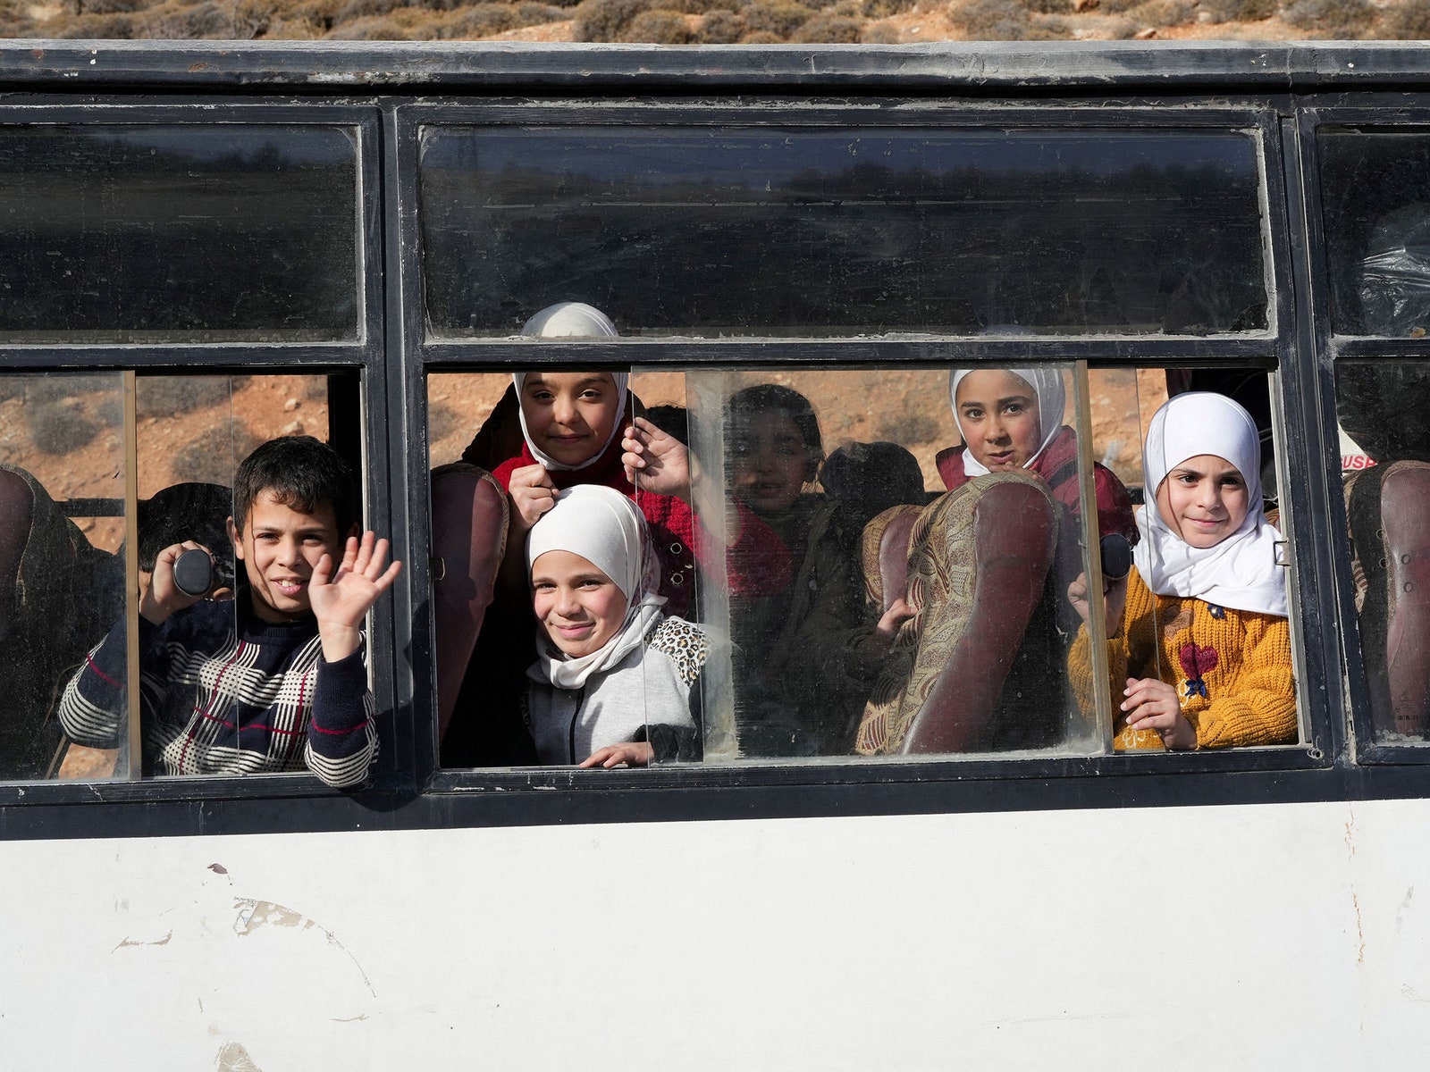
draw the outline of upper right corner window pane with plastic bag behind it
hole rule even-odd
[[[1317,131],[1340,334],[1430,330],[1430,130]]]

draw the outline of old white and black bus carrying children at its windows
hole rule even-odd
[[[1430,1043],[1427,57],[6,41],[4,1063],[1411,1066]],[[565,302],[613,333],[523,334]],[[535,762],[511,692],[529,619],[492,625],[502,552],[449,539],[442,487],[466,480],[465,523],[505,537],[483,470],[521,450],[512,373],[592,369],[688,443],[709,532],[756,523],[729,490],[731,399],[805,399],[799,502],[832,505],[857,596],[917,583],[961,610],[899,633],[922,657],[892,686],[885,660],[832,699],[852,662],[797,636],[815,673],[789,698],[751,669],[788,622],[739,643],[741,563],[705,555],[668,577],[731,640],[704,759]],[[972,545],[922,525],[954,495],[951,382],[981,369],[1041,370],[1062,397],[1042,419],[1071,429],[1088,509],[1008,486],[1094,582],[1097,473],[1150,502],[1158,406],[1243,403],[1281,535],[1290,736],[1120,749],[1107,663],[1078,698],[1058,646],[1078,626],[1038,603],[1044,580],[998,647],[1018,599],[990,563],[1022,555],[1022,522]],[[164,773],[140,703],[154,550],[223,547],[237,460],[300,433],[360,475],[403,562],[366,630],[372,778]],[[914,519],[947,537],[918,563]],[[818,596],[822,576],[786,583]],[[1024,665],[1030,622],[1054,657]],[[110,630],[129,719],[86,745],[56,710]],[[931,696],[950,722],[925,733]],[[809,698],[842,736],[785,732]],[[855,746],[878,702],[912,706]],[[1021,715],[970,728],[990,705]]]

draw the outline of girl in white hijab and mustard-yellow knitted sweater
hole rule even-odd
[[[1261,445],[1236,402],[1178,394],[1143,447],[1154,502],[1137,516],[1134,569],[1107,586],[1114,746],[1227,748],[1294,742],[1296,690],[1280,535],[1261,509]],[[1087,579],[1068,586],[1087,622]],[[1087,629],[1068,655],[1093,708]]]

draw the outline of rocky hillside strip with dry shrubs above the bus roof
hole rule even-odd
[[[1430,39],[1430,0],[0,0],[0,37],[635,41]]]

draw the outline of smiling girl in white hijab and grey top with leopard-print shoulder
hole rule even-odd
[[[556,495],[526,543],[536,662],[526,723],[543,763],[698,759],[705,635],[668,617],[645,517],[611,487]]]

